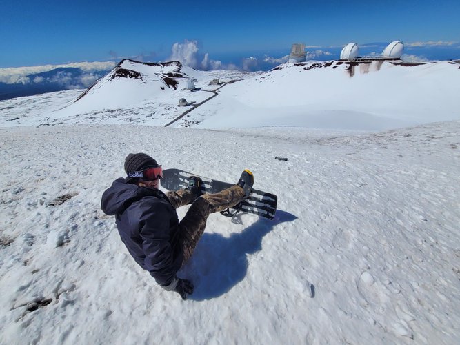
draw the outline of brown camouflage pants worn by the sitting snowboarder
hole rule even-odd
[[[215,194],[203,194],[195,200],[196,196],[190,190],[184,189],[166,193],[166,196],[174,208],[192,202],[186,216],[179,223],[179,246],[183,253],[182,264],[190,259],[197,247],[208,216],[235,206],[245,199],[243,188],[239,186],[232,186]]]

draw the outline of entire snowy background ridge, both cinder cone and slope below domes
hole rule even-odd
[[[14,110],[3,117],[8,126],[385,130],[459,119],[459,85],[459,64],[454,61],[308,61],[283,63],[268,72],[239,72],[199,71],[179,61],[125,59],[46,117],[31,119]]]

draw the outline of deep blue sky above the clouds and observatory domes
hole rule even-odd
[[[423,59],[460,59],[459,0],[0,0],[0,8],[0,68],[180,54],[199,64],[206,53],[208,68],[241,67],[251,56],[281,58],[296,42],[333,59],[349,42],[372,53],[394,40]]]

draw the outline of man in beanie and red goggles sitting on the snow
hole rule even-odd
[[[148,270],[165,290],[183,299],[193,293],[193,284],[176,273],[190,258],[203,235],[210,213],[226,210],[248,197],[254,184],[245,170],[238,184],[216,194],[202,194],[199,177],[191,176],[186,189],[163,193],[159,180],[163,170],[145,153],[130,153],[125,159],[128,177],[116,179],[102,195],[101,208],[115,215],[121,240],[137,264]],[[192,204],[179,222],[176,208]]]

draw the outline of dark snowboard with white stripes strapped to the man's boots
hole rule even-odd
[[[167,190],[179,190],[188,186],[188,177],[198,176],[203,180],[201,187],[203,193],[218,193],[221,190],[234,186],[228,182],[210,179],[209,177],[199,176],[192,172],[186,172],[180,169],[163,170],[161,186]],[[277,212],[278,197],[272,193],[263,192],[262,190],[252,188],[249,197],[241,201],[237,206],[221,212],[222,215],[232,217],[239,212],[254,213],[264,218],[272,220]]]

